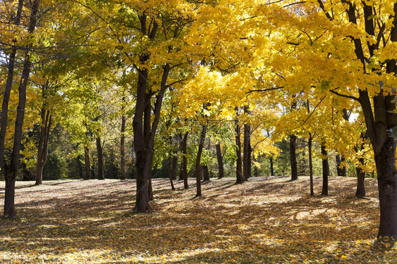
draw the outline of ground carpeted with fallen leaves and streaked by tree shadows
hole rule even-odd
[[[153,180],[153,213],[134,214],[134,180],[17,182],[18,218],[0,219],[0,263],[397,263],[377,241],[377,182],[331,177],[212,179],[203,197]],[[0,183],[0,206],[4,182]]]

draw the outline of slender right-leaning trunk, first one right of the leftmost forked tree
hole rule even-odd
[[[47,163],[49,132],[52,125],[52,115],[45,107],[41,110],[42,123],[40,127],[40,140],[37,147],[36,185],[42,184],[42,172]]]

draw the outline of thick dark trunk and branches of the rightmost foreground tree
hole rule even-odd
[[[357,25],[356,8],[352,2],[345,1],[346,13],[350,23]],[[365,31],[370,36],[375,36],[374,30],[374,13],[372,6],[367,6],[364,3]],[[397,3],[393,5],[393,25],[390,32],[390,42],[397,42]],[[389,34],[389,33],[388,33]],[[386,37],[385,34],[380,34],[379,37]],[[366,58],[364,55],[361,39],[352,37],[352,42],[355,45],[355,55],[357,61],[360,61],[363,66],[363,72],[367,71]],[[377,49],[377,44],[370,44],[369,54],[373,54]],[[367,49],[366,48],[366,49]],[[377,180],[379,190],[379,207],[380,207],[380,221],[378,237],[397,237],[397,171],[396,171],[396,127],[397,116],[394,113],[396,103],[393,100],[396,98],[394,94],[385,91],[383,88],[383,75],[380,70],[378,93],[372,97],[372,102],[369,99],[369,94],[366,87],[359,87],[359,97],[357,101],[362,108],[362,115],[365,118],[365,125],[367,133],[371,140],[372,149],[374,150],[374,160],[377,166]],[[386,73],[393,75],[397,74],[396,59],[389,59],[386,61]],[[386,79],[386,78],[385,78]],[[382,81],[382,82],[381,82]],[[343,94],[340,94],[343,96]],[[389,134],[390,133],[390,134]]]

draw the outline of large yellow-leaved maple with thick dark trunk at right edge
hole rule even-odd
[[[307,57],[304,58],[307,70],[300,68],[300,73],[291,77],[295,79],[306,75],[302,83],[314,87],[316,92],[325,90],[360,103],[377,167],[380,206],[378,237],[397,237],[396,141],[391,136],[397,125],[392,90],[396,87],[397,67],[390,53],[397,42],[397,4],[343,1],[339,5],[318,1],[318,11],[312,7],[309,10],[304,5],[300,7],[303,13],[309,14],[308,17],[288,13],[285,20],[288,20],[291,29],[296,28],[306,34],[295,38],[294,42],[288,40],[296,51],[292,53],[294,58],[288,58],[303,59],[297,58],[299,56],[296,54],[301,51],[307,54],[310,49],[316,63],[308,63]],[[336,13],[336,10],[339,12]],[[309,23],[297,24],[297,21],[307,21],[309,17],[319,23],[314,27]],[[314,44],[313,39],[319,42]],[[368,39],[368,42],[363,44],[363,39]],[[331,44],[332,49],[324,50],[320,43]],[[339,56],[341,54],[349,55]],[[327,69],[325,75],[321,73],[324,69]],[[326,76],[331,72],[338,74]],[[283,77],[289,79],[286,75]]]

